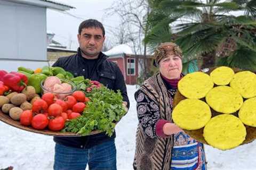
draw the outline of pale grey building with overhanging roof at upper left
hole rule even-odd
[[[52,0],[1,0],[0,1],[0,65],[10,70],[20,65],[38,67],[47,61],[46,9],[67,11],[74,8]],[[9,66],[4,64],[9,63]],[[27,61],[27,62],[26,62]],[[7,67],[8,66],[8,67]]]

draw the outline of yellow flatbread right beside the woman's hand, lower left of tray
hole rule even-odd
[[[172,112],[174,123],[186,130],[203,128],[211,116],[210,107],[198,99],[181,100]]]

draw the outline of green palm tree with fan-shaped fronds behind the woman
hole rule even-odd
[[[175,41],[185,63],[202,59],[202,68],[216,64],[256,70],[256,0],[149,0],[149,48]]]

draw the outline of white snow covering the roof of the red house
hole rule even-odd
[[[133,54],[131,47],[126,44],[121,44],[109,49],[107,52],[103,52],[107,56],[115,56],[119,54]]]

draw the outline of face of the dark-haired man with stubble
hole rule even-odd
[[[105,40],[100,28],[83,28],[81,34],[77,35],[79,47],[87,56],[93,57],[98,55]]]

